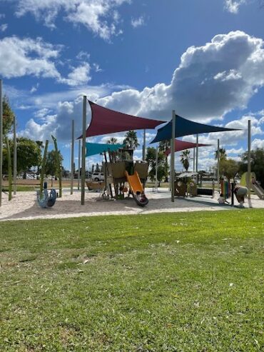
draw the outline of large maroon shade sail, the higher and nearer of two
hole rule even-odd
[[[86,137],[101,136],[102,134],[113,134],[115,132],[134,129],[155,129],[156,126],[165,122],[123,114],[104,108],[92,101],[88,101],[88,103],[91,106],[91,123],[88,129],[86,129]],[[81,137],[78,138],[80,139]]]

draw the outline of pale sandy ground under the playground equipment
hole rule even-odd
[[[139,213],[161,213],[176,211],[212,211],[212,210],[232,210],[235,206],[220,205],[217,197],[194,197],[175,198],[171,202],[171,194],[166,188],[160,188],[157,193],[152,188],[146,191],[149,203],[145,208],[136,205],[133,198],[126,198],[123,201],[105,201],[100,197],[100,193],[86,191],[86,202],[81,206],[81,193],[74,191],[70,194],[68,189],[63,191],[63,197],[57,198],[52,208],[41,208],[36,203],[36,192],[18,192],[11,201],[8,201],[6,193],[2,196],[2,206],[0,208],[0,221],[21,220],[32,218],[69,218],[77,216],[98,216],[117,214],[139,214]],[[264,201],[257,196],[251,196],[250,201],[245,200],[245,208],[264,208]]]

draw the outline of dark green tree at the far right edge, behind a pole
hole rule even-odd
[[[255,172],[255,176],[264,187],[264,148],[257,148],[250,152],[251,171]],[[248,152],[246,151],[241,156],[241,161],[238,165],[239,174],[248,171]]]

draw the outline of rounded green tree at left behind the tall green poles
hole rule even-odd
[[[11,150],[11,159],[13,165],[14,156],[14,143],[13,140],[9,141]],[[7,159],[6,159],[6,148],[3,150],[3,171],[7,171]],[[31,169],[33,166],[39,166],[41,163],[41,149],[38,144],[31,139],[20,137],[17,139],[16,144],[16,170],[18,174],[24,172],[24,178],[26,178],[26,171]]]

